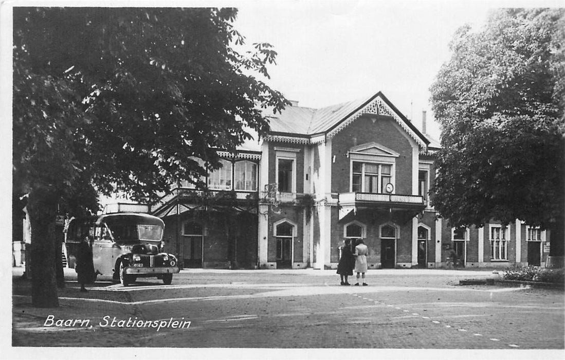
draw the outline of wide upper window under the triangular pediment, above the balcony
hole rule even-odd
[[[364,193],[386,193],[386,184],[392,182],[392,164],[351,164],[351,191]]]

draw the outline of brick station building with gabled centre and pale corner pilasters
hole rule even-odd
[[[368,267],[543,265],[545,231],[516,220],[448,226],[431,206],[439,144],[379,92],[268,115],[267,137],[237,153],[207,191],[181,181],[151,205],[166,223],[164,246],[184,267],[335,268],[345,238],[362,238]]]

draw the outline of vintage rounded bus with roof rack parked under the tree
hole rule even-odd
[[[112,276],[124,286],[137,277],[171,284],[179,272],[175,255],[162,251],[163,220],[140,213],[116,213],[72,219],[66,233],[67,262],[74,268],[77,246],[88,238],[96,275]]]

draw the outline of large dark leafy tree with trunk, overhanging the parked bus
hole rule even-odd
[[[14,8],[14,196],[28,194],[32,303],[58,306],[55,214],[95,211],[95,195],[151,199],[219,167],[268,131],[286,100],[258,75],[233,8]],[[201,167],[192,157],[205,161]],[[202,184],[198,184],[202,185]]]

